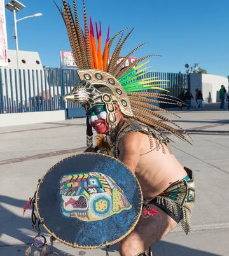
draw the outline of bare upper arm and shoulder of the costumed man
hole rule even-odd
[[[123,138],[121,138],[118,149],[120,150],[118,159],[123,162],[132,173],[135,173],[141,150],[140,132],[125,134]]]

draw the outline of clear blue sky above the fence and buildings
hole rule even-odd
[[[43,16],[18,22],[19,50],[39,52],[43,66],[59,68],[60,50],[71,50],[59,11],[52,0],[20,2],[26,8],[17,13],[17,18],[39,12]],[[83,18],[82,1],[76,3]],[[198,62],[210,74],[229,75],[228,0],[85,0],[85,3],[88,17],[92,16],[94,22],[101,20],[104,39],[108,25],[111,35],[124,27],[135,27],[122,55],[147,41],[135,56],[162,54],[151,59],[153,70],[184,73],[184,64],[193,66]],[[13,13],[8,10],[6,25],[8,48],[15,49]]]

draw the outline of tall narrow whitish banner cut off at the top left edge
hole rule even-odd
[[[8,65],[4,0],[0,0],[0,67]]]

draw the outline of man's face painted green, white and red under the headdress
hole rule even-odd
[[[98,105],[87,111],[89,124],[95,129],[97,133],[104,134],[109,131],[107,112],[104,105]]]

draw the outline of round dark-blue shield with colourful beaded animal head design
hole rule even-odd
[[[54,238],[92,249],[112,245],[134,229],[142,193],[137,178],[120,160],[82,153],[46,172],[38,185],[36,208]]]

